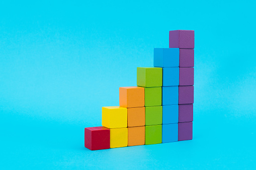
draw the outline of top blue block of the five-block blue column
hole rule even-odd
[[[178,48],[154,48],[154,67],[179,67]]]

